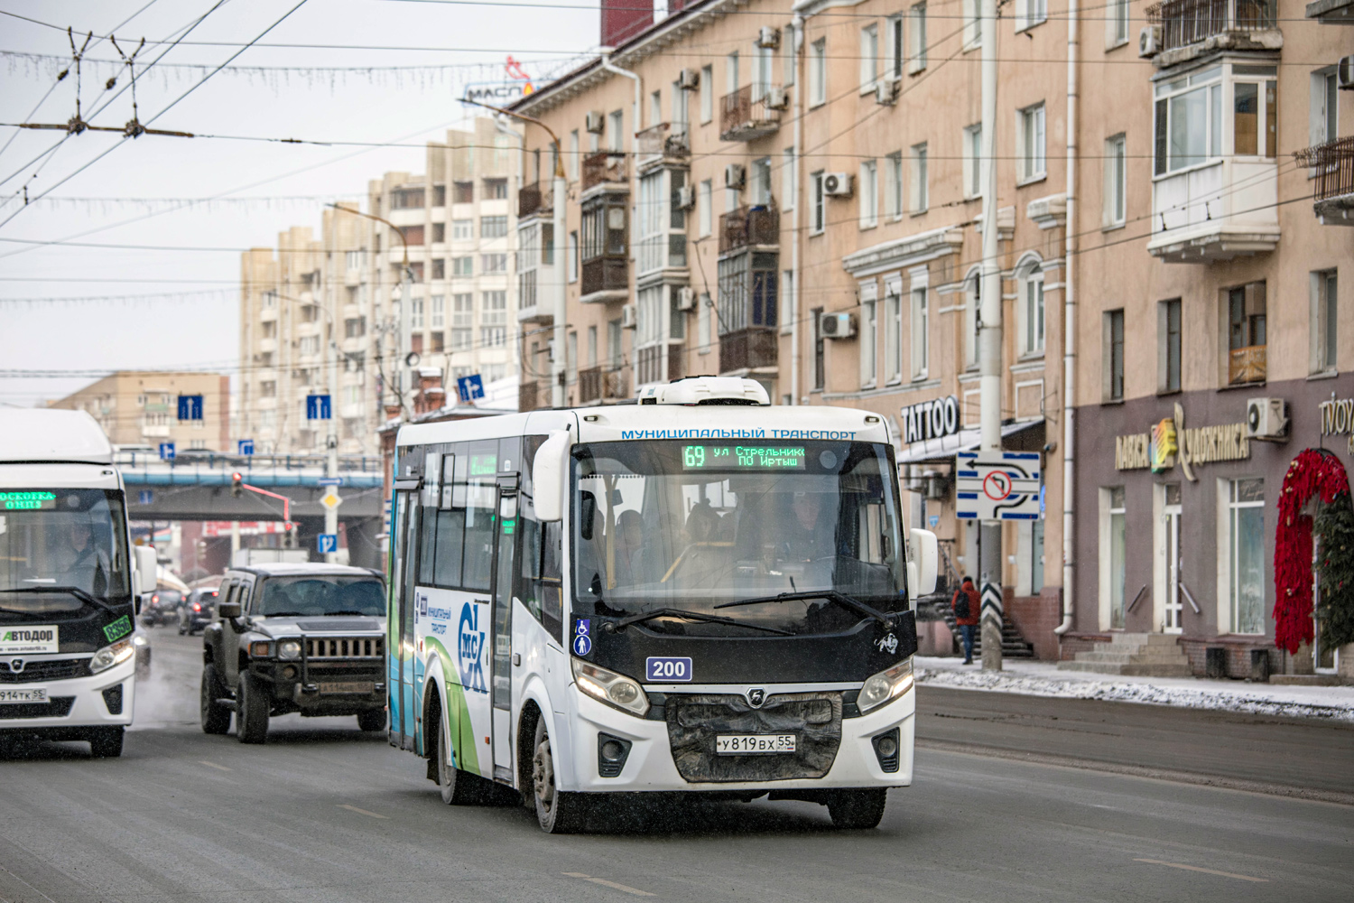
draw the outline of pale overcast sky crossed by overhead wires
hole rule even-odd
[[[74,114],[76,77],[66,68],[66,26],[108,34],[131,54],[148,39],[138,68],[158,57],[214,5],[184,41],[169,50],[162,68],[137,81],[139,119],[148,122],[188,91],[203,72],[225,62],[259,37],[298,0],[110,0],[69,3],[0,0],[0,11],[19,14],[61,30],[0,16],[0,122],[64,123]],[[533,77],[556,72],[577,54],[597,46],[594,0],[542,0],[589,8],[524,9],[493,3],[416,0],[306,0],[261,43],[367,45],[398,50],[317,47],[250,47],[232,65],[157,119],[152,127],[196,134],[291,137],[318,141],[405,144],[437,139],[467,115],[456,103],[466,81],[501,80],[510,53]],[[149,3],[149,5],[148,5]],[[127,41],[123,41],[123,37]],[[83,43],[77,39],[77,46]],[[227,42],[203,46],[188,42]],[[408,47],[429,47],[412,50]],[[51,60],[46,57],[65,57]],[[91,111],[123,88],[104,91],[118,51],[104,41],[85,51],[80,97],[87,120],[122,126],[131,118],[130,92]],[[307,69],[292,73],[250,72],[249,66]],[[328,72],[344,66],[386,70]],[[394,66],[460,66],[395,72]],[[210,69],[209,69],[210,70]],[[125,70],[123,70],[125,72]],[[34,106],[50,96],[34,111]],[[30,118],[31,114],[31,118]],[[386,171],[421,172],[417,148],[314,148],[211,138],[142,135],[125,141],[116,133],[68,138],[50,157],[42,154],[61,131],[0,127],[0,371],[112,371],[210,366],[233,370],[238,359],[240,255],[233,250],[137,250],[73,245],[32,246],[12,240],[50,241],[99,230],[84,242],[246,248],[275,246],[278,232],[309,225],[318,232],[326,200],[363,196],[367,180]],[[57,185],[100,153],[88,169]],[[35,177],[34,177],[34,173]],[[261,184],[253,184],[261,183]],[[56,187],[54,187],[56,185]],[[252,187],[250,187],[252,185]],[[51,191],[20,211],[19,199]],[[198,199],[222,195],[249,199],[168,211],[100,199]],[[158,213],[138,219],[148,213]],[[111,226],[111,227],[106,227]],[[145,295],[165,295],[145,298]],[[53,303],[53,298],[131,296],[122,301]],[[15,303],[12,299],[42,299]],[[11,301],[3,301],[11,299]],[[0,372],[0,403],[34,405],[60,398],[95,376],[16,378]]]

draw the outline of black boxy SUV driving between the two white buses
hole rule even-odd
[[[233,567],[202,634],[202,730],[263,743],[268,718],[356,715],[386,726],[386,582],[338,565]]]

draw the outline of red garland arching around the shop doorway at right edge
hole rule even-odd
[[[1303,506],[1317,493],[1330,505],[1349,490],[1339,459],[1315,448],[1294,458],[1284,477],[1274,536],[1274,644],[1290,654],[1313,639],[1312,519]]]

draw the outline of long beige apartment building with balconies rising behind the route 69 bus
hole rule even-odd
[[[1150,11],[1125,0],[1074,12],[1017,0],[997,23],[1002,432],[1006,448],[1043,455],[1045,482],[1045,519],[1005,528],[1003,582],[1009,621],[1044,658],[1089,650],[1124,627],[1101,617],[1099,487],[1118,481],[1113,436],[1144,429],[1145,410],[1163,401],[1151,353],[1158,302],[1194,299],[1177,356],[1189,361],[1186,386],[1240,398],[1220,391],[1227,368],[1212,363],[1232,328],[1219,305],[1231,296],[1224,290],[1270,279],[1269,305],[1285,313],[1270,320],[1269,341],[1284,330],[1281,370],[1307,384],[1316,371],[1298,361],[1315,360],[1309,320],[1335,310],[1308,298],[1336,284],[1312,273],[1347,265],[1354,250],[1354,232],[1320,225],[1311,200],[1275,206],[1311,194],[1292,153],[1338,134],[1339,118],[1322,104],[1349,120],[1349,95],[1327,92],[1323,79],[1350,50],[1350,31],[1305,19],[1296,1],[1246,3]],[[569,179],[566,234],[551,244],[552,150],[546,131],[527,125],[521,408],[550,403],[544,287],[558,279],[558,248],[569,403],[727,374],[762,382],[777,403],[884,416],[911,521],[938,533],[949,577],[975,574],[978,529],[955,517],[953,474],[956,451],[978,444],[976,16],[968,0],[705,0],[672,3],[655,19],[604,0],[609,53],[515,106],[561,137]],[[1202,95],[1192,77],[1206,77]],[[1275,81],[1278,107],[1269,100]],[[1278,115],[1277,133],[1275,108],[1292,111]],[[1349,215],[1338,199],[1323,210],[1326,222]],[[1265,303],[1263,292],[1243,294],[1243,305]],[[1104,320],[1117,309],[1129,324],[1121,343],[1106,338],[1121,321]],[[1179,320],[1163,310],[1170,332]],[[1127,361],[1122,401],[1104,390],[1110,345]],[[1328,394],[1340,375],[1334,363],[1319,370],[1336,380],[1320,383]],[[1144,413],[1127,418],[1133,429],[1113,424],[1135,399]],[[1064,500],[1070,421],[1082,459],[1078,495]],[[1150,508],[1135,504],[1147,529]],[[1133,567],[1136,592],[1152,565]],[[1212,582],[1197,586],[1196,600],[1212,604]],[[1139,604],[1124,628],[1160,632],[1158,619],[1140,617],[1147,611]],[[1190,628],[1205,644],[1229,630],[1206,619]]]

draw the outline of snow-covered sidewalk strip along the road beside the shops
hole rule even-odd
[[[1251,715],[1319,718],[1354,723],[1354,686],[1271,686],[1197,677],[1132,677],[1060,671],[1056,662],[1006,659],[1002,671],[984,671],[961,658],[914,659],[917,682],[929,686],[1212,708]]]

